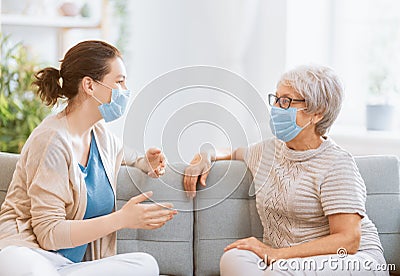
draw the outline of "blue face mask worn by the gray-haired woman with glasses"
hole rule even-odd
[[[297,109],[289,107],[288,109],[283,109],[276,106],[271,107],[269,126],[276,138],[283,142],[289,142],[311,123],[308,122],[304,127],[300,127],[296,124],[297,111],[304,109],[305,108]]]

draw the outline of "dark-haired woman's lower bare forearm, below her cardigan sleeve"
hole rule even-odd
[[[123,228],[120,211],[86,220],[71,221],[71,242],[79,246],[107,236]]]

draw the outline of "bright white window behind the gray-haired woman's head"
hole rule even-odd
[[[287,37],[288,68],[327,64],[343,80],[336,125],[365,129],[367,104],[399,105],[400,1],[288,0]],[[395,113],[400,117],[399,108]]]

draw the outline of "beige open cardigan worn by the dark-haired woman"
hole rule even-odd
[[[83,219],[86,184],[67,129],[61,112],[46,118],[28,138],[1,206],[0,249],[8,245],[45,250],[73,247],[70,223]],[[93,132],[115,196],[122,144],[103,121],[94,125]],[[138,160],[133,152],[128,159],[130,162],[124,162],[127,165]],[[88,248],[93,260],[114,255],[116,233],[92,242]]]

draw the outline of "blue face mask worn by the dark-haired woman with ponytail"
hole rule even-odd
[[[98,108],[100,110],[101,116],[103,116],[104,118],[104,121],[108,123],[120,118],[125,113],[131,92],[129,90],[111,88],[101,82],[98,83],[103,85],[104,87],[111,89],[110,103],[102,103],[95,96],[92,96],[96,101],[100,103]]]

